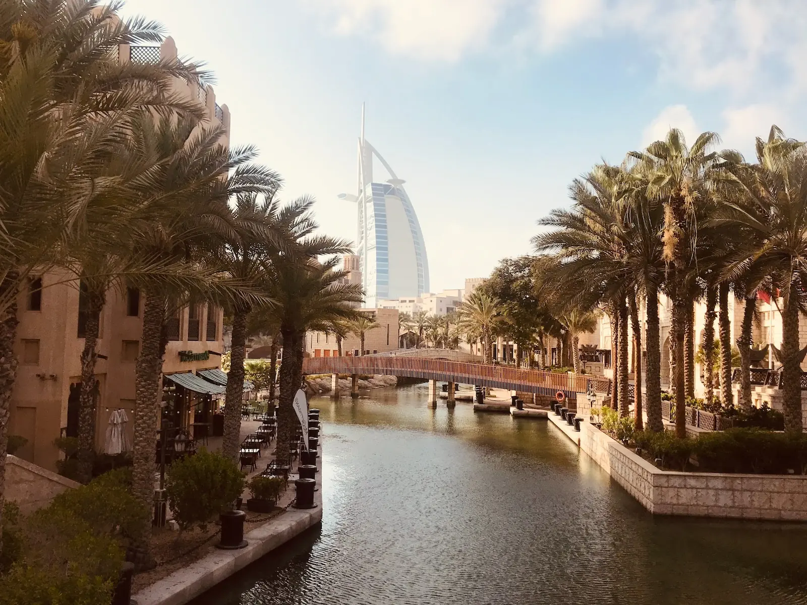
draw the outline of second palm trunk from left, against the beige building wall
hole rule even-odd
[[[95,378],[95,363],[98,353],[98,336],[101,327],[101,311],[105,302],[104,292],[87,290],[86,325],[84,349],[82,350],[82,390],[78,397],[78,481],[89,483],[93,478],[95,457],[95,413],[98,398],[98,378]]]

